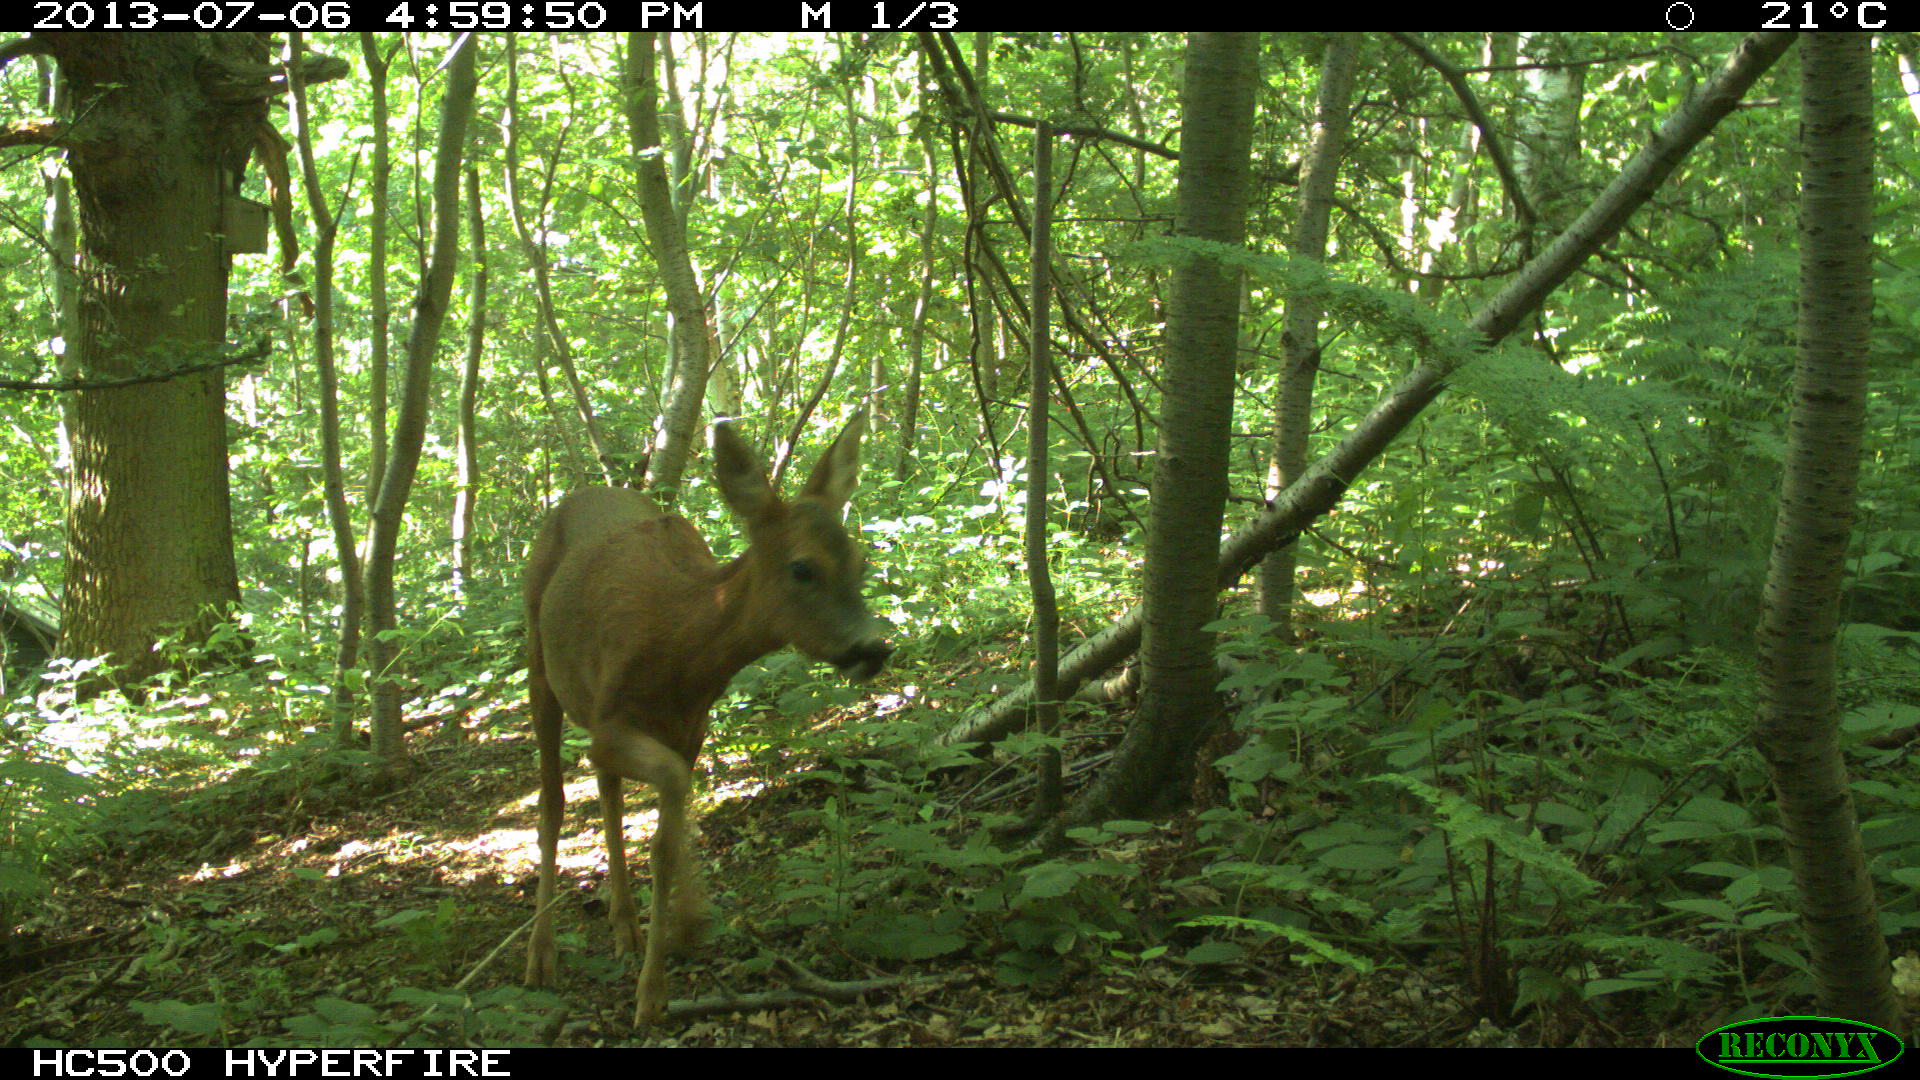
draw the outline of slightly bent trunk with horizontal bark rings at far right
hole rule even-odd
[[[1880,905],[1839,749],[1834,634],[1866,411],[1874,313],[1872,56],[1801,42],[1801,317],[1788,459],[1761,609],[1755,742],[1774,778],[1820,1011],[1901,1026]]]

